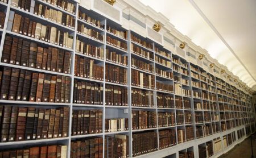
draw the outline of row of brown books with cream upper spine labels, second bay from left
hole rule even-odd
[[[74,81],[73,103],[103,105],[103,84]]]

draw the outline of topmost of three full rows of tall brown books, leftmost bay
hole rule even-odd
[[[5,37],[2,63],[27,66],[59,73],[71,73],[71,52],[54,47],[40,47],[23,39]]]

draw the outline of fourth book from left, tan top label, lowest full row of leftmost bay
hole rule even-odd
[[[32,140],[35,120],[35,107],[28,107],[24,140]]]

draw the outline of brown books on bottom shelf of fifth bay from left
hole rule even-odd
[[[176,132],[173,129],[159,131],[159,149],[176,145]]]

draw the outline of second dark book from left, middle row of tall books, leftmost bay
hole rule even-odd
[[[19,70],[20,69],[11,69],[11,80],[10,80],[10,87],[9,87],[9,100],[15,100],[16,98],[16,92],[18,88],[19,83]]]

